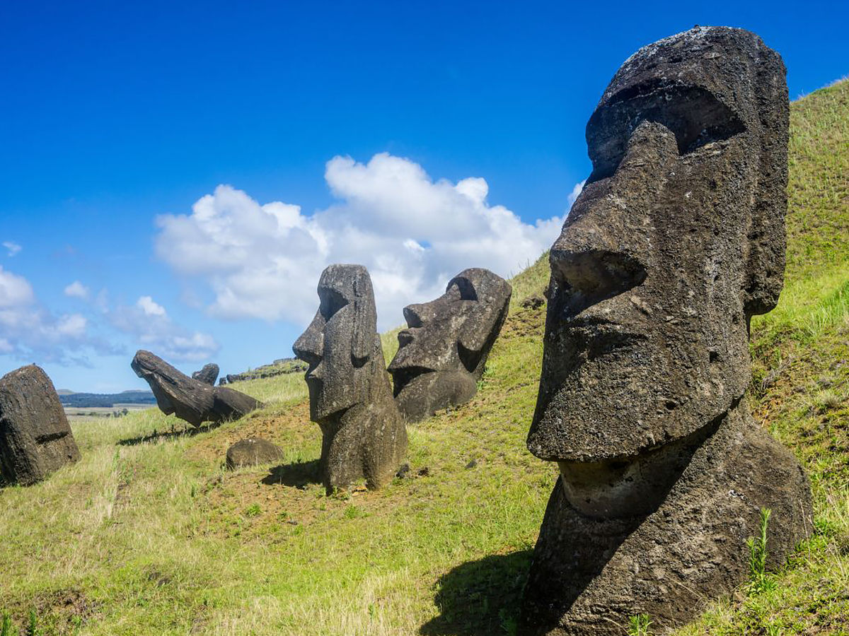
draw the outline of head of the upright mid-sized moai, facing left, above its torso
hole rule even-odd
[[[315,318],[292,349],[309,365],[310,416],[320,422],[368,400],[373,371],[367,363],[382,349],[365,267],[329,265],[318,281],[318,298]]]

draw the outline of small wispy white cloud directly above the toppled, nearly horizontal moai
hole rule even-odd
[[[132,336],[138,347],[151,349],[166,360],[208,360],[220,349],[211,335],[189,331],[171,321],[165,308],[150,296],[141,296],[132,305],[119,304],[106,316],[112,326]]]

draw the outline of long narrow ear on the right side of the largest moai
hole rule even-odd
[[[790,107],[784,63],[761,43],[757,65],[757,111],[761,125],[760,171],[748,242],[743,302],[747,317],[765,314],[779,302],[784,286],[787,235],[787,142]]]

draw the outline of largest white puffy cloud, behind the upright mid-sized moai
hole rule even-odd
[[[381,328],[403,321],[402,307],[440,294],[467,267],[509,276],[557,237],[562,217],[523,222],[487,201],[485,179],[434,181],[409,159],[380,153],[363,164],[335,157],[324,174],[337,201],[305,215],[294,204],[260,204],[222,185],[190,215],[161,215],[157,256],[200,281],[212,315],[304,323],[330,263],[366,265]]]

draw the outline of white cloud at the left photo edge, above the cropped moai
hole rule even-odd
[[[68,363],[70,351],[91,344],[81,314],[53,315],[38,303],[30,282],[0,267],[0,354]]]

